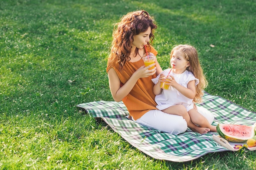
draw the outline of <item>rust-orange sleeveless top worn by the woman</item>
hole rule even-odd
[[[152,46],[150,46],[150,48],[147,46],[147,50],[148,53],[151,52],[155,56],[157,55],[157,51]],[[137,62],[126,62],[124,67],[120,70],[117,57],[115,57],[115,55],[109,55],[106,70],[108,72],[110,68],[114,68],[122,85],[125,84],[132,74],[141,66],[144,66],[143,59]],[[130,115],[135,120],[139,119],[149,110],[157,110],[155,95],[153,93],[154,83],[151,81],[153,78],[156,78],[156,74],[139,78],[130,93],[122,99]]]

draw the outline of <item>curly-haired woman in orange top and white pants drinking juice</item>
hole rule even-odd
[[[115,25],[107,65],[109,86],[113,99],[124,102],[133,121],[177,135],[187,129],[183,117],[156,108],[151,79],[161,73],[162,68],[156,58],[155,63],[147,67],[142,60],[145,45],[148,52],[157,55],[150,46],[156,28],[154,19],[143,10],[127,13]],[[155,68],[149,70],[151,66]]]

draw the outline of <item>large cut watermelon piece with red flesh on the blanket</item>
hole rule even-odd
[[[218,134],[230,142],[245,142],[255,136],[255,126],[218,124]]]

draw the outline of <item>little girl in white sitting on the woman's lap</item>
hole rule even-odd
[[[152,79],[156,107],[165,113],[182,116],[195,132],[216,132],[216,126],[193,107],[194,103],[202,102],[203,89],[207,86],[196,49],[190,45],[175,46],[171,51],[171,66]],[[160,87],[164,81],[170,85],[167,90]]]

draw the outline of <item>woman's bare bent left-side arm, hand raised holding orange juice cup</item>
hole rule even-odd
[[[109,87],[112,94],[113,99],[116,102],[120,102],[124,97],[126,97],[134,85],[136,84],[137,80],[142,77],[148,77],[150,75],[154,75],[156,73],[156,67],[152,70],[148,70],[151,66],[154,66],[154,64],[150,64],[149,66],[141,66],[137,71],[135,71],[130,79],[120,87],[121,81],[117,75],[117,72],[114,68],[110,68],[108,71],[108,81],[109,81]]]

